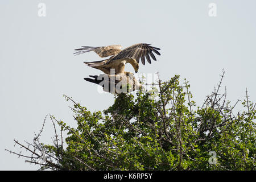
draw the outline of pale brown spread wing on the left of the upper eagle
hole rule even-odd
[[[80,55],[81,53],[94,51],[96,52],[100,57],[108,57],[117,55],[120,51],[122,51],[122,46],[120,45],[112,45],[112,46],[101,46],[101,47],[92,47],[92,46],[82,46],[82,48],[75,49],[74,54]]]

